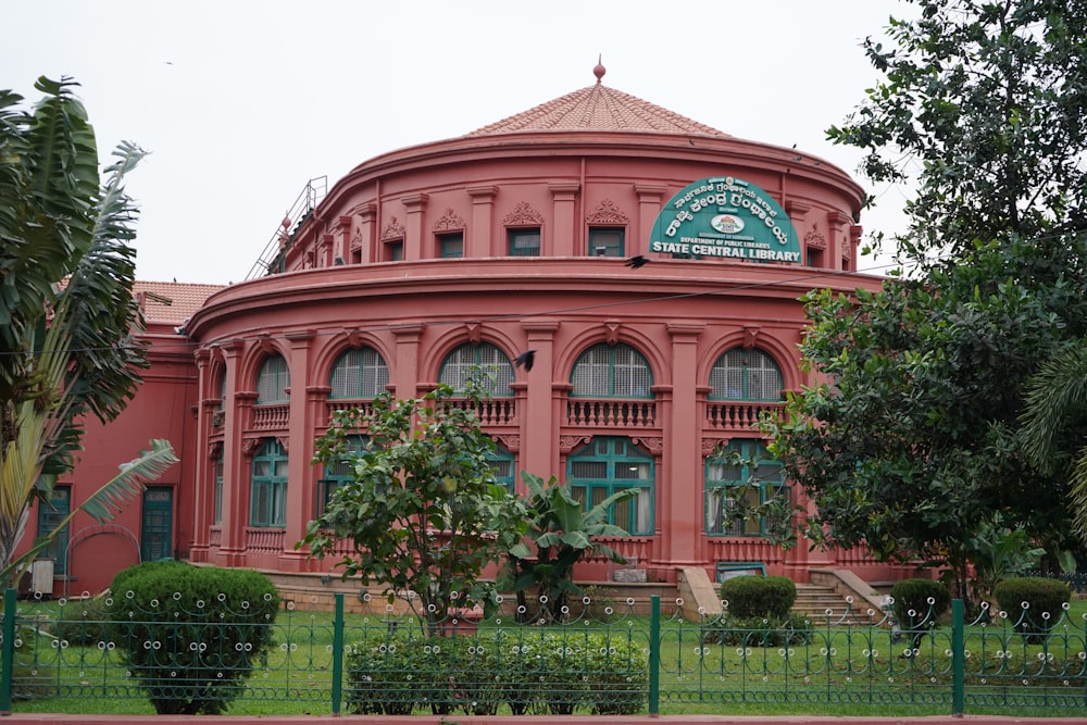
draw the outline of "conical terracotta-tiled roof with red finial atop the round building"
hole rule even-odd
[[[596,85],[575,90],[516,115],[465,134],[465,137],[537,132],[649,132],[688,136],[728,134],[691,121],[640,98],[604,86],[604,67],[594,68]]]

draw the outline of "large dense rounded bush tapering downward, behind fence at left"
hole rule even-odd
[[[272,643],[279,593],[258,572],[176,561],[113,579],[107,614],[125,666],[159,714],[221,714]]]

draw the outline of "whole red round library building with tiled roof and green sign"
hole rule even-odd
[[[857,552],[783,552],[764,522],[729,524],[736,474],[715,458],[722,446],[757,454],[758,415],[813,382],[799,370],[798,298],[878,285],[855,272],[863,189],[595,72],[595,85],[524,113],[360,164],[287,224],[263,276],[210,296],[138,288],[162,323],[148,382],[88,437],[72,483],[101,478],[149,437],[170,438],[182,463],[109,546],[71,534],[71,586],[96,590],[137,555],[317,572],[295,542],[338,483],[310,464],[332,413],[387,389],[455,386],[475,364],[498,374],[480,413],[502,476],[557,474],[596,500],[638,488],[612,512],[630,536],[611,545],[651,578],[688,565],[890,578]],[[636,255],[648,263],[626,262]],[[178,304],[192,291],[196,309]],[[532,371],[515,367],[529,349]],[[787,489],[772,462],[759,473],[751,500]],[[148,546],[155,511],[168,546]]]

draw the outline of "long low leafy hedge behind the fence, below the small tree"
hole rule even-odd
[[[360,714],[435,714],[453,708],[492,715],[505,703],[514,714],[633,714],[646,701],[649,662],[623,637],[540,630],[425,639],[397,630],[348,648],[347,699]]]

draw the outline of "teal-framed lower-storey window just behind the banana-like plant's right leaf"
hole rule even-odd
[[[601,436],[570,454],[567,480],[574,498],[589,509],[627,488],[638,496],[614,504],[608,522],[632,535],[653,533],[653,457],[626,438]]]

